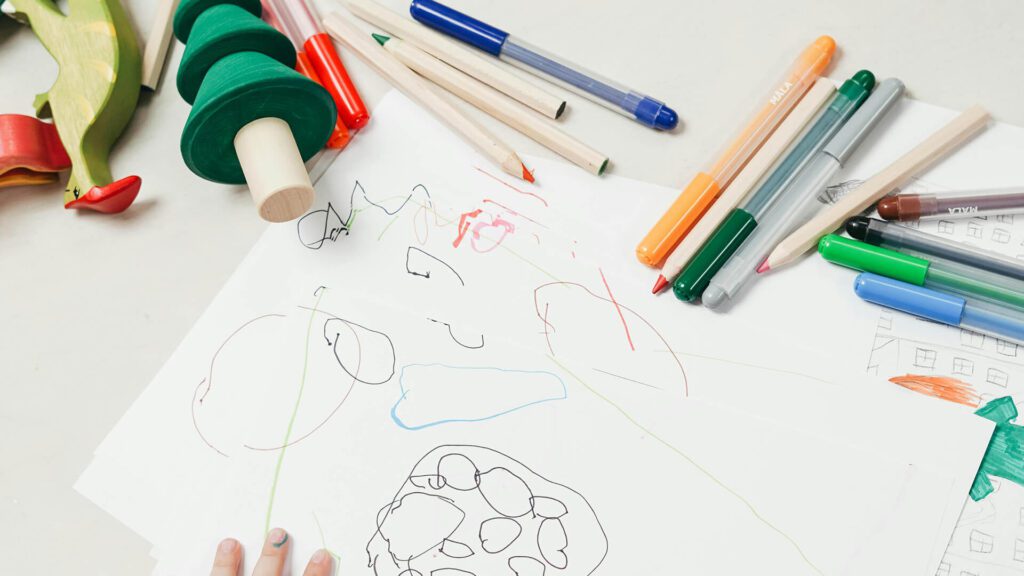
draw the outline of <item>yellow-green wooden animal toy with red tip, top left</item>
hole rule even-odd
[[[77,0],[65,14],[53,0],[8,0],[57,60],[56,82],[36,96],[36,115],[53,118],[71,158],[65,207],[120,212],[142,180],[114,181],[109,156],[135,111],[139,53],[135,33],[118,0]],[[8,7],[4,8],[5,10]]]

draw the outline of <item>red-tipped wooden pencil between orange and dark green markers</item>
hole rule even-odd
[[[836,93],[836,85],[827,78],[818,78],[814,85],[804,94],[800,102],[793,109],[772,132],[768,141],[761,147],[757,155],[746,163],[739,175],[736,176],[729,188],[725,189],[722,196],[711,205],[703,216],[697,220],[690,233],[683,237],[683,240],[672,251],[672,254],[665,260],[662,266],[662,275],[654,283],[651,290],[657,294],[667,288],[680,272],[690,263],[693,256],[703,246],[705,242],[718,229],[718,224],[725,220],[725,217],[732,212],[733,208],[746,197],[755,184],[761,181],[762,176],[775,164],[775,161],[782,156],[782,153],[790,148],[790,145],[797,139],[811,120],[817,116],[818,111]]]

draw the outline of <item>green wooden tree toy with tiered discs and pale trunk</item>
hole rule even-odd
[[[193,105],[181,156],[199,176],[248,183],[263,219],[301,216],[313,202],[304,162],[338,118],[331,94],[295,72],[295,48],[259,18],[259,0],[182,0],[178,92]]]

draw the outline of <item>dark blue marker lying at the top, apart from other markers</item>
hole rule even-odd
[[[679,117],[665,102],[562,60],[443,4],[433,0],[413,0],[409,11],[421,24],[634,118],[641,124],[657,130],[671,130],[679,124]]]

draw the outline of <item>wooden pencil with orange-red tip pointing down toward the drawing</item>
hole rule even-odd
[[[534,181],[534,175],[508,145],[444,99],[429,82],[388,53],[370,33],[359,30],[354,23],[337,11],[324,18],[324,26],[339,42],[366,60],[407,96],[436,115],[503,170],[517,178]]]

